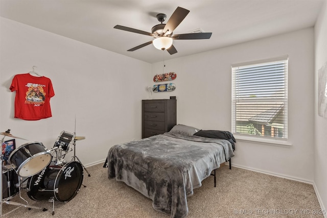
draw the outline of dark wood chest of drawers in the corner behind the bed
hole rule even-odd
[[[142,100],[142,138],[169,132],[176,125],[176,99]]]

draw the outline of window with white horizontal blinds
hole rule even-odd
[[[288,57],[233,65],[232,133],[287,139]]]

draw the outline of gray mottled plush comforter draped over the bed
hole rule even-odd
[[[186,197],[232,156],[227,140],[165,133],[111,147],[108,178],[152,199],[155,210],[185,217]]]

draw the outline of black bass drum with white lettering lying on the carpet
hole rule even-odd
[[[27,195],[34,201],[68,202],[80,190],[83,181],[83,167],[77,161],[67,162],[63,166],[46,166],[27,182]]]

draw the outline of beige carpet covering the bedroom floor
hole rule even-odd
[[[152,207],[152,200],[127,186],[109,180],[107,168],[102,164],[87,168],[83,184],[77,196],[68,203],[52,203],[29,199],[26,190],[22,196],[30,205],[44,207],[28,210],[26,207],[6,214],[4,217],[169,217]],[[188,217],[323,217],[314,215],[321,209],[313,186],[227,165],[217,170],[218,185],[214,187],[213,176],[203,180],[202,187],[194,190],[188,198]],[[11,201],[22,202],[19,196]],[[3,214],[17,208],[3,204]],[[320,211],[319,211],[320,210]]]

